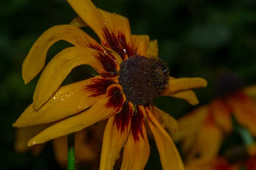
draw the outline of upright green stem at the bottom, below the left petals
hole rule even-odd
[[[75,133],[67,135],[67,170],[75,170]]]

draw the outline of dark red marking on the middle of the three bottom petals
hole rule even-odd
[[[144,124],[143,111],[139,107],[136,107],[134,111],[134,115],[132,116],[132,120],[131,120],[131,133],[135,142],[140,141],[139,134],[144,139],[143,129],[142,129],[143,124]]]

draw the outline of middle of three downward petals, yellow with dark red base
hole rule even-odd
[[[131,131],[125,142],[121,170],[143,170],[149,157],[149,143],[145,129],[145,109],[137,106],[131,120]]]

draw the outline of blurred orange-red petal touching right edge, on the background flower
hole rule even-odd
[[[237,122],[256,136],[256,105],[244,93],[238,92],[227,99]]]

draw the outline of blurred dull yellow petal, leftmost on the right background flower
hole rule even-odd
[[[178,142],[189,136],[189,134],[198,132],[208,114],[209,108],[207,105],[204,105],[178,119],[179,130],[172,136],[172,139]]]

